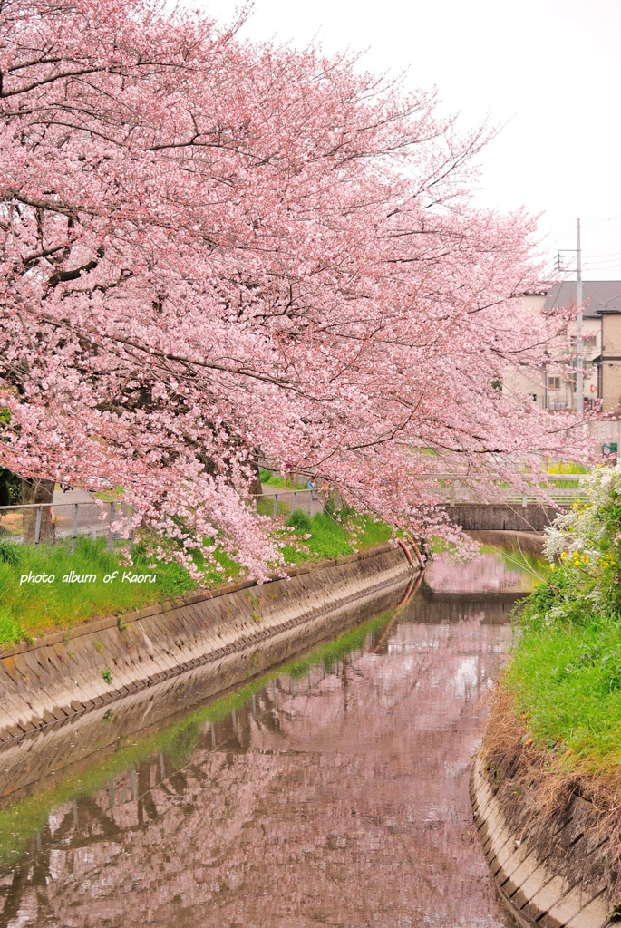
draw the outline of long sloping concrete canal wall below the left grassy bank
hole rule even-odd
[[[311,620],[324,617],[329,625],[334,610],[403,585],[417,572],[401,548],[382,545],[296,568],[290,578],[262,586],[237,584],[19,645],[0,656],[0,743],[224,658],[232,666],[237,655],[252,675],[242,655],[257,644],[283,633],[291,642],[291,630],[299,628],[299,650]],[[243,678],[229,672],[224,686]]]

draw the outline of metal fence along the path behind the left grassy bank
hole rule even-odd
[[[326,496],[307,489],[280,490],[278,493],[252,496],[252,506],[261,515],[288,516],[298,509],[313,516],[326,506]],[[126,516],[123,502],[104,501],[77,503],[30,503],[0,507],[0,544],[55,545],[68,544],[75,550],[80,536],[108,539],[108,550],[120,538],[112,531],[112,523]],[[125,539],[126,541],[127,539]],[[134,547],[134,532],[129,536]]]

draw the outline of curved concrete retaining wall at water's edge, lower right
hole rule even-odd
[[[471,779],[472,814],[498,893],[520,928],[604,928],[610,924],[600,860],[606,839],[585,827],[592,809],[574,796],[553,837],[561,857],[577,858],[577,870],[559,866],[559,854],[542,857],[528,836],[511,827],[477,758]],[[598,875],[599,873],[599,875]]]

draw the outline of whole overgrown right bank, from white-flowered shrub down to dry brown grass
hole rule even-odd
[[[519,610],[483,759],[515,834],[563,878],[604,880],[617,912],[621,467],[592,473],[588,492],[588,501],[548,532],[550,574]],[[572,818],[579,821],[574,844],[559,846],[557,835]]]

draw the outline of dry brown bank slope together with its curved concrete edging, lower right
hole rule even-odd
[[[521,926],[603,928],[620,896],[619,783],[563,770],[498,692],[471,782],[498,891]]]

